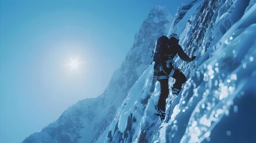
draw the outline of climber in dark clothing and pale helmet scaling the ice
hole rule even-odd
[[[179,37],[177,34],[172,33],[169,38],[161,36],[156,42],[155,52],[153,53],[154,65],[154,79],[160,82],[161,90],[158,99],[158,115],[161,119],[165,118],[165,104],[166,98],[169,95],[168,79],[172,77],[175,79],[174,85],[172,85],[172,95],[178,95],[181,91],[181,86],[186,82],[186,76],[180,69],[175,67],[174,57],[178,54],[181,60],[191,62],[195,60],[196,56],[190,58],[181,46],[178,44]]]

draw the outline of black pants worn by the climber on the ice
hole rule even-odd
[[[181,89],[181,86],[184,82],[186,82],[187,78],[186,76],[179,70],[175,70],[172,78],[175,79],[175,83],[172,86],[172,88]],[[158,109],[161,109],[165,111],[165,104],[166,104],[166,98],[168,98],[169,95],[169,85],[168,85],[168,79],[161,79],[160,82],[160,96],[158,100]]]

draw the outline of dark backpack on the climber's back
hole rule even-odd
[[[164,54],[168,50],[169,44],[170,41],[168,37],[161,36],[158,38],[155,45],[155,51],[153,51],[153,61],[155,61],[155,63],[162,63],[166,60],[164,60]]]

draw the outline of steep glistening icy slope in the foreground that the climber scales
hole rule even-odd
[[[255,1],[193,1],[183,7],[169,34],[181,33],[180,45],[197,58],[175,60],[188,81],[171,105],[169,95],[169,119],[159,123],[154,115],[159,83],[150,66],[119,107],[104,142],[256,142]]]

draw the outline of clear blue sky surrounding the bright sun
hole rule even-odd
[[[153,6],[174,15],[179,2],[0,0],[0,142],[21,142],[103,93]]]

